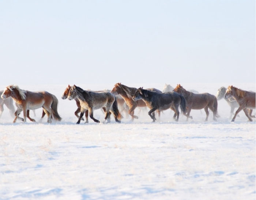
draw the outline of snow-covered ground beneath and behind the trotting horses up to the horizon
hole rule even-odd
[[[77,85],[102,90],[114,83]],[[162,90],[164,83],[126,85]],[[181,85],[215,95],[229,84]],[[255,83],[233,86],[255,91]],[[124,118],[121,124],[113,119],[97,124],[89,118],[89,124],[77,125],[75,102],[60,98],[66,85],[19,87],[56,95],[63,121],[47,124],[45,117],[42,123],[12,124],[5,108],[0,119],[0,199],[255,199],[255,119],[248,122],[240,112],[231,122],[223,99],[217,122],[212,113],[204,122],[204,110],[192,110],[193,120],[181,116],[175,122],[173,112],[166,110],[155,123],[141,112],[134,122]],[[36,111],[36,121],[41,112]],[[103,121],[100,110],[95,118]]]

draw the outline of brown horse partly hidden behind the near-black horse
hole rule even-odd
[[[138,107],[146,107],[146,103],[142,100],[139,99],[138,101],[133,101],[132,97],[135,94],[137,88],[135,87],[128,87],[125,86],[121,83],[116,83],[113,87],[113,89],[110,91],[112,94],[114,95],[118,95],[120,94],[121,97],[124,99],[125,103],[128,105],[129,107],[129,115],[132,117],[132,121],[133,119],[138,119],[139,117],[134,115],[134,110],[135,108]],[[155,91],[157,93],[162,93],[160,90],[155,89],[155,88],[148,88],[148,90],[151,91]],[[158,112],[158,115],[160,115],[160,112]]]

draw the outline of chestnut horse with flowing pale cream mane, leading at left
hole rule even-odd
[[[16,85],[10,85],[7,86],[3,94],[1,95],[1,98],[6,99],[8,97],[11,97],[15,102],[17,106],[17,110],[14,113],[14,123],[16,122],[16,119],[22,120],[23,122],[26,122],[27,117],[27,110],[34,110],[38,109],[40,107],[43,108],[44,112],[48,116],[47,122],[51,123],[51,117],[53,115],[55,120],[60,121],[61,117],[58,114],[57,106],[58,106],[58,99],[53,95],[46,91],[39,91],[39,92],[30,92],[21,90]],[[24,119],[19,117],[20,112],[23,111]]]

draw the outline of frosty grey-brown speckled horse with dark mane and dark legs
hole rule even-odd
[[[82,88],[74,85],[70,88],[68,93],[68,99],[72,100],[78,98],[81,106],[81,113],[76,124],[80,123],[80,120],[86,110],[89,111],[90,118],[93,121],[99,123],[99,120],[93,117],[93,111],[105,107],[105,120],[109,117],[110,113],[113,114],[116,122],[120,122],[121,114],[118,111],[116,97],[110,92],[92,92],[86,91]]]

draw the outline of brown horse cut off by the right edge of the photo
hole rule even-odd
[[[250,121],[252,121],[252,118],[248,114],[248,110],[246,108],[255,109],[255,92],[249,92],[249,91],[238,89],[233,86],[229,86],[226,90],[224,98],[229,99],[230,97],[233,97],[234,99],[236,99],[237,103],[239,104],[239,107],[232,121],[235,121],[237,114],[241,110],[244,110],[245,115],[248,117]]]

